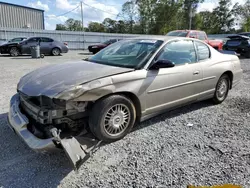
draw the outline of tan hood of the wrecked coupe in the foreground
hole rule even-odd
[[[22,77],[17,89],[29,96],[53,97],[73,86],[129,71],[133,69],[88,61],[49,65]]]

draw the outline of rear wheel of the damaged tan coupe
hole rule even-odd
[[[226,74],[223,74],[218,80],[216,88],[215,88],[214,97],[213,97],[213,101],[215,104],[220,104],[227,98],[229,88],[230,88],[229,76]]]

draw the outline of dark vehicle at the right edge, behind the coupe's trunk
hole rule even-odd
[[[235,51],[236,53],[250,58],[250,38],[242,35],[231,35],[223,46],[224,50]]]

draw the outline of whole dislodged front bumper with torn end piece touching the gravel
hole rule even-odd
[[[101,141],[89,135],[61,139],[60,130],[56,128],[50,130],[53,137],[48,139],[37,138],[27,129],[29,119],[21,113],[19,105],[20,98],[19,95],[16,94],[10,101],[10,110],[8,114],[9,126],[34,151],[42,153],[55,151],[59,150],[57,146],[61,145],[74,169],[77,170],[101,143]]]

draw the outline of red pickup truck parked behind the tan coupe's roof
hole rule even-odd
[[[171,31],[167,34],[167,36],[178,36],[178,37],[189,37],[189,38],[196,38],[200,39],[216,50],[222,50],[223,41],[222,40],[209,40],[207,37],[206,32],[198,31],[198,30],[176,30]]]

